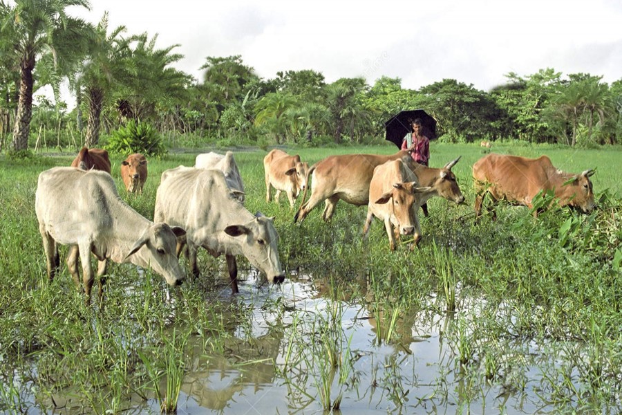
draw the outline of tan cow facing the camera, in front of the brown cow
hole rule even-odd
[[[369,205],[367,220],[363,227],[364,237],[374,216],[384,221],[389,238],[390,250],[395,250],[395,239],[399,235],[414,232],[415,243],[421,239],[421,226],[417,210],[421,196],[432,192],[431,187],[419,187],[413,172],[402,160],[392,160],[377,166],[369,183]],[[395,234],[393,228],[395,227]]]

